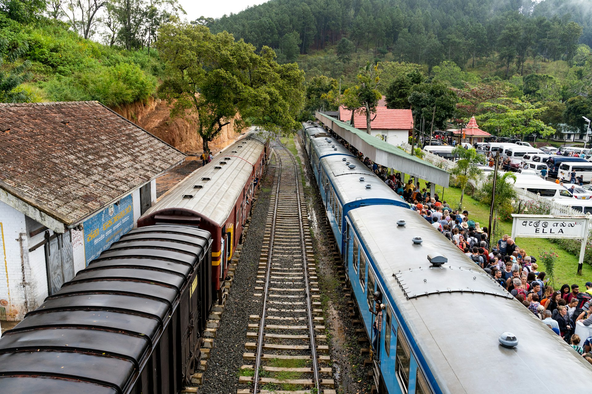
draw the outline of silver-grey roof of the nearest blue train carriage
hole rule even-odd
[[[570,390],[589,389],[592,366],[416,211],[368,206],[348,215],[442,392],[558,393],[565,371],[576,377]],[[411,242],[416,236],[423,243]],[[430,268],[430,254],[448,263]],[[498,343],[504,332],[516,335],[513,349]]]

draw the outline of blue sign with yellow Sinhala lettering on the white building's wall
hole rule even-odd
[[[86,266],[98,258],[112,243],[134,227],[134,204],[131,194],[121,198],[118,204],[111,204],[91,219],[82,223],[84,227],[84,254]]]

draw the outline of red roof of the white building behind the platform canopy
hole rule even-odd
[[[339,120],[349,122],[352,111],[339,107]],[[390,109],[377,107],[376,113],[372,113],[370,119],[374,119],[370,126],[375,130],[411,130],[413,129],[413,114],[410,109]],[[366,114],[363,110],[356,110],[353,115],[353,126],[356,129],[366,129]]]

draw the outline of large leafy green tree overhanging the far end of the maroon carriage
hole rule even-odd
[[[249,122],[270,132],[298,128],[304,72],[278,64],[271,48],[258,54],[228,32],[178,19],[160,27],[156,47],[170,71],[159,95],[172,105],[171,116],[194,122],[204,150],[237,115],[237,129]]]

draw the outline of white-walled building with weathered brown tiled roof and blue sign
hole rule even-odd
[[[98,102],[0,104],[0,320],[134,227],[185,155]]]

